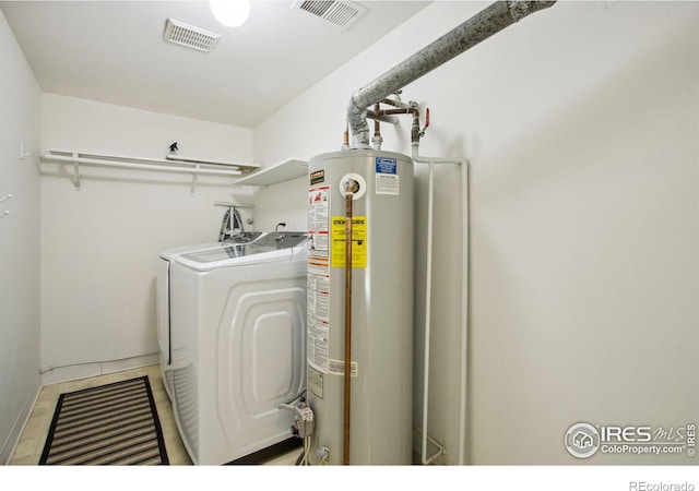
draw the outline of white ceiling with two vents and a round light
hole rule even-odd
[[[431,2],[356,1],[367,11],[346,29],[293,0],[251,3],[237,28],[203,0],[2,0],[0,10],[46,93],[253,128]],[[218,45],[166,43],[168,17],[220,33]]]

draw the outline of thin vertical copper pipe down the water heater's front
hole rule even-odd
[[[345,394],[343,462],[350,465],[350,416],[352,408],[352,191],[345,191]]]

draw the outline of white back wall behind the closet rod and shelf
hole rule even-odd
[[[249,163],[252,131],[44,94],[42,146]],[[167,248],[215,242],[235,178],[43,164],[44,383],[155,362],[155,274]],[[237,202],[249,196],[236,195]],[[249,212],[241,209],[244,218]]]

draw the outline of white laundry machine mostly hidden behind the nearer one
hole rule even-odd
[[[161,252],[157,264],[156,278],[156,324],[157,342],[159,346],[161,375],[163,384],[170,400],[173,399],[173,370],[171,370],[171,342],[170,342],[170,266],[175,259],[181,254],[198,251],[208,251],[228,247],[230,243],[249,243],[262,237],[264,232],[249,231],[237,232],[223,242],[206,242],[181,248],[167,249]]]

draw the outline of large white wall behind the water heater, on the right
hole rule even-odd
[[[389,33],[259,125],[256,158],[339,149],[355,89],[487,4],[436,2]],[[677,428],[699,414],[698,21],[695,2],[559,2],[405,87],[431,109],[420,152],[470,160],[471,463],[692,462],[579,460],[564,436],[579,421]],[[384,128],[384,149],[408,153],[408,131]],[[438,172],[429,420],[452,464],[457,177]],[[297,181],[264,213],[301,217]],[[418,285],[424,253],[419,237]]]

